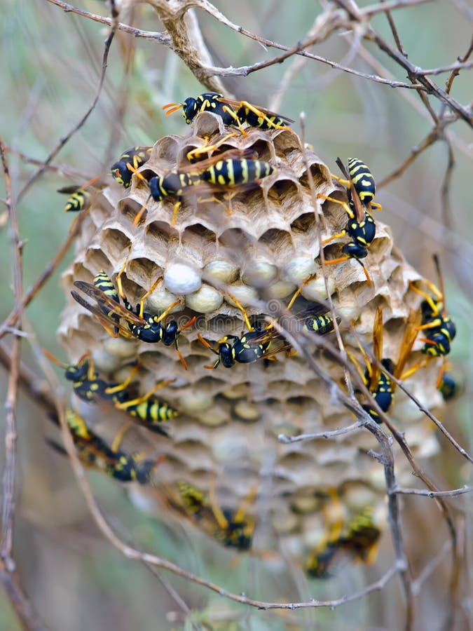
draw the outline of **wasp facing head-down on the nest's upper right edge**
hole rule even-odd
[[[355,159],[356,158],[352,158],[352,160]],[[317,197],[341,205],[343,207],[343,210],[345,210],[348,215],[348,224],[346,228],[341,232],[338,232],[331,237],[324,239],[322,241],[322,245],[327,245],[327,243],[330,243],[330,241],[341,238],[345,236],[345,234],[348,234],[352,238],[352,241],[342,247],[343,257],[325,261],[325,264],[333,265],[335,263],[346,261],[347,259],[355,259],[362,266],[364,275],[366,276],[366,281],[369,283],[369,285],[371,285],[372,283],[371,278],[369,277],[369,273],[361,261],[361,259],[364,259],[368,256],[369,246],[371,245],[371,243],[373,243],[373,240],[376,236],[376,222],[369,212],[369,210],[371,210],[372,204],[371,198],[369,198],[367,192],[364,190],[364,187],[362,187],[362,181],[359,180],[357,185],[352,182],[350,175],[345,169],[345,166],[341,162],[340,158],[337,158],[336,163],[341,169],[343,175],[345,175],[346,177],[346,179],[341,180],[341,182],[348,182],[348,184],[350,184],[350,187],[346,190],[348,203],[335,199],[334,197],[322,194],[317,194]],[[368,187],[366,186],[366,189],[367,188]],[[359,190],[362,192],[364,198],[366,198],[366,202],[364,203],[362,203],[359,196]]]

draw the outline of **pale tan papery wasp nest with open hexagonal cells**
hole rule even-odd
[[[140,171],[146,179],[162,175],[185,163],[186,152],[201,147],[205,138],[215,142],[226,133],[218,116],[204,112],[196,118],[193,133],[158,140]],[[376,441],[359,428],[333,440],[282,444],[277,440],[281,433],[320,433],[349,425],[354,419],[331,400],[326,386],[301,355],[279,353],[275,361],[237,362],[230,369],[219,365],[212,370],[207,366],[214,364],[216,355],[197,336],[200,333],[216,347],[224,336],[240,337],[247,331],[242,311],[231,296],[247,307],[252,321],[268,314],[277,316],[277,308],[270,313],[272,306],[287,305],[310,275],[315,277],[303,286],[299,302],[307,308],[311,302],[327,299],[318,231],[322,229],[324,238],[340,232],[347,215],[341,205],[322,199],[314,208],[306,164],[315,194],[343,200],[345,191],[332,182],[329,168],[313,151],[307,149],[304,158],[299,139],[290,130],[249,129],[247,135],[228,138],[225,147],[251,149],[275,171],[258,185],[235,191],[231,199],[221,197],[221,203],[212,199],[212,191],[192,191],[184,197],[174,225],[176,199],[170,196],[160,203],[149,201],[135,226],[133,219],[149,198],[146,182],[136,175],[129,189],[112,182],[94,196],[78,238],[76,258],[64,273],[64,289],[69,295],[74,281],[92,283],[101,270],[116,282],[128,257],[122,280],[132,305],[160,279],[146,299],[146,311],[162,313],[179,301],[170,318],[182,326],[196,316],[196,322],[179,337],[188,369],[172,346],[109,337],[72,299],[62,318],[60,337],[71,360],[90,350],[97,370],[110,379],[124,379],[138,359],[142,393],[158,381],[175,380],[157,393],[179,411],[167,424],[169,437],[145,428],[136,430],[133,437],[142,441],[140,447],[165,455],[153,474],[154,484],[139,487],[151,506],[156,503],[156,513],[162,513],[160,494],[166,496],[165,489],[175,491],[183,480],[206,496],[214,492],[219,506],[227,510],[237,510],[251,496],[246,512],[255,520],[258,547],[270,545],[267,534],[272,531],[301,552],[317,545],[326,533],[333,489],[346,520],[367,506],[376,509],[378,520],[383,519],[383,468],[368,454],[369,449],[376,449]],[[340,256],[346,241],[341,238],[327,245],[325,257]],[[362,362],[351,323],[369,346],[376,308],[381,306],[383,356],[396,361],[409,309],[418,308],[420,302],[409,290],[409,280],[419,276],[393,245],[389,227],[380,221],[364,264],[371,285],[355,259],[324,267],[341,318],[341,333],[347,350]],[[266,306],[257,308],[262,298]],[[298,308],[296,303],[294,313]],[[334,334],[327,338],[334,339]],[[315,350],[314,357],[343,388],[341,367],[320,351]],[[430,407],[441,401],[432,371],[432,366],[420,370],[408,382],[411,392]],[[99,432],[113,435],[123,420],[123,413],[110,407],[110,420],[104,421],[100,408],[94,421],[90,409],[82,412]],[[432,426],[399,390],[390,414],[420,456],[435,452]],[[410,475],[410,468],[399,458],[398,479],[402,481],[403,475]],[[265,524],[264,536],[259,536],[261,523]]]

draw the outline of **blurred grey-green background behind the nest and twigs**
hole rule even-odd
[[[367,3],[364,3],[366,5]],[[267,39],[292,46],[307,36],[322,8],[311,1],[217,0],[214,5],[233,22]],[[163,29],[153,9],[139,4],[124,9],[120,20],[149,31]],[[409,60],[422,67],[448,65],[465,54],[471,37],[471,24],[461,2],[437,2],[393,12],[397,29]],[[107,15],[102,2],[83,0],[81,8]],[[197,13],[204,39],[215,65],[250,65],[277,55],[258,43],[245,39],[209,15]],[[373,18],[373,27],[392,41],[384,15]],[[1,136],[11,149],[8,160],[15,197],[34,172],[35,166],[20,156],[44,159],[48,152],[77,123],[92,102],[97,89],[103,42],[107,28],[96,22],[48,4],[46,0],[4,0],[0,23]],[[372,44],[351,58],[348,37],[332,35],[313,49],[317,55],[346,63],[362,72],[378,73],[364,59],[373,59],[404,81],[404,72]],[[348,55],[348,56],[347,56]],[[273,97],[294,57],[246,78],[224,79],[235,97],[246,98],[273,108]],[[444,86],[448,75],[434,79]],[[453,84],[453,96],[462,103],[472,100],[471,72],[462,72]],[[68,184],[81,184],[99,173],[128,147],[153,144],[159,137],[184,134],[179,114],[165,118],[161,107],[203,92],[191,72],[171,50],[155,41],[134,39],[119,33],[112,45],[104,89],[100,101],[83,128],[71,138],[53,165],[20,198],[18,219],[23,249],[24,287],[29,287],[50,262],[71,224],[62,212],[66,197],[56,190]],[[268,95],[270,97],[268,98]],[[436,111],[439,103],[432,100]],[[399,90],[359,79],[327,65],[306,60],[294,74],[289,88],[277,104],[277,111],[294,118],[299,131],[299,114],[306,114],[306,141],[329,168],[335,169],[336,156],[357,156],[369,163],[378,182],[404,161],[432,128],[425,107],[414,90]],[[473,133],[462,121],[448,128],[455,154],[451,180],[450,229],[444,226],[441,185],[448,161],[446,144],[436,142],[404,175],[380,189],[377,200],[385,209],[383,221],[392,226],[395,243],[408,261],[425,276],[434,278],[432,252],[439,252],[446,276],[448,310],[458,324],[458,342],[451,355],[462,375],[464,393],[448,407],[448,428],[465,448],[472,447],[471,384],[472,326],[471,297],[473,247],[471,243],[471,185]],[[0,198],[4,180],[0,179]],[[13,247],[8,222],[0,208],[0,319],[13,307]],[[66,257],[59,271],[27,309],[40,346],[64,358],[56,340],[64,294],[60,273],[71,260]],[[7,339],[7,342],[10,340]],[[22,344],[22,357],[39,372]],[[6,389],[7,373],[1,369],[0,390]],[[50,452],[44,436],[50,427],[38,414],[34,401],[23,396],[18,407],[18,505],[15,557],[25,587],[39,616],[52,629],[71,631],[94,629],[114,631],[137,628],[191,628],[185,614],[149,570],[121,555],[103,541],[92,524],[85,503],[72,477],[69,464]],[[445,443],[443,443],[445,445]],[[448,449],[433,463],[453,486],[467,481],[468,473],[459,458]],[[456,454],[458,456],[458,454]],[[3,456],[0,455],[0,459]],[[453,457],[454,470],[448,458]],[[124,492],[113,480],[90,474],[90,482],[100,506],[124,537],[132,534],[146,550],[220,582],[226,588],[241,590],[258,581],[262,598],[287,600],[297,594],[308,597],[337,597],[364,585],[361,573],[349,574],[353,583],[341,580],[337,589],[324,583],[298,585],[294,576],[281,568],[246,558],[235,564],[233,555],[216,550],[204,536],[161,524],[133,510]],[[425,501],[425,500],[420,500]],[[467,502],[467,501],[465,501]],[[412,502],[406,503],[411,506]],[[471,505],[470,505],[471,506]],[[425,509],[425,504],[423,505]],[[433,518],[439,520],[433,511]],[[470,527],[471,528],[471,527]],[[194,541],[197,537],[197,543]],[[352,578],[352,577],[355,578]],[[371,579],[378,576],[368,571]],[[390,599],[371,595],[362,602],[335,611],[268,613],[246,610],[209,592],[166,575],[203,628],[248,630],[291,628],[366,628],[383,626],[395,615],[399,586],[388,586]],[[261,588],[268,581],[270,588]],[[299,590],[299,591],[298,591]],[[434,592],[432,592],[434,593]],[[389,604],[389,602],[391,604]],[[430,599],[423,601],[427,611]],[[177,612],[177,613],[176,613]],[[427,615],[427,614],[426,614]],[[435,619],[434,611],[430,616]],[[212,620],[212,623],[210,623]],[[209,623],[205,626],[204,623]],[[297,626],[299,625],[299,626]],[[18,627],[8,600],[0,593],[0,629]],[[430,628],[437,628],[435,626]]]

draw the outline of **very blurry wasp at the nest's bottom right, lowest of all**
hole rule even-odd
[[[306,566],[308,574],[313,578],[329,578],[330,568],[339,555],[348,555],[365,563],[373,562],[380,535],[380,529],[373,522],[373,509],[365,508],[345,530],[329,538],[310,555]]]

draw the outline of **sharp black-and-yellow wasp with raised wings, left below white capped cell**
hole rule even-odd
[[[179,301],[172,303],[172,305],[170,305],[160,316],[151,315],[151,313],[144,311],[144,300],[156,289],[156,285],[160,280],[159,278],[155,283],[153,283],[151,289],[144,294],[137,306],[133,308],[132,304],[130,304],[128,299],[125,297],[121,284],[121,275],[125,269],[126,263],[127,259],[125,259],[125,263],[123,264],[117,277],[118,296],[123,300],[123,305],[117,302],[113,295],[111,296],[109,293],[104,292],[96,286],[95,282],[94,284],[90,284],[84,283],[81,280],[76,280],[74,283],[74,286],[77,287],[78,290],[81,290],[83,294],[95,301],[94,304],[91,304],[83,299],[83,297],[75,291],[71,292],[72,297],[78,302],[78,304],[81,304],[81,306],[88,309],[90,313],[93,313],[112,337],[118,337],[119,333],[123,337],[135,337],[136,339],[148,342],[149,344],[156,344],[157,342],[162,341],[165,346],[174,345],[174,348],[179,355],[179,360],[181,360],[184,368],[187,369],[186,360],[184,360],[184,357],[179,351],[178,338],[181,331],[193,325],[196,321],[195,316],[191,318],[184,327],[179,328],[176,320],[170,320],[165,324],[161,322],[164,318],[166,318],[171,309],[179,304]],[[107,286],[109,286],[111,284],[110,278],[104,273],[104,271],[101,271],[100,275],[102,281],[106,281]],[[97,277],[95,280],[96,279]],[[112,318],[112,316],[117,316],[117,318]],[[128,329],[123,327],[120,323],[117,324],[118,318],[123,318],[123,320],[126,321]],[[116,333],[117,328],[118,333]]]

